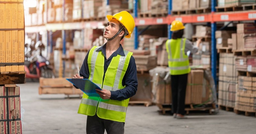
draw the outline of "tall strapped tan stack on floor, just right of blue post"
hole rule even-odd
[[[220,53],[218,105],[235,107],[237,71],[233,53]]]

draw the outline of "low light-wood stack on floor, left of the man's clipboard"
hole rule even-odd
[[[70,77],[68,77],[70,78]],[[40,78],[39,94],[83,94],[80,89],[76,89],[72,83],[67,82],[66,78]]]

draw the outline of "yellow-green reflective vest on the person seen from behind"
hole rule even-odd
[[[190,72],[188,56],[185,53],[185,43],[186,38],[169,39],[165,43],[171,75],[183,75]]]

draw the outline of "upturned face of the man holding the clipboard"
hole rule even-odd
[[[105,28],[103,37],[107,39],[112,38],[119,31],[119,28],[120,28],[119,26],[120,26],[120,23],[118,20],[116,19],[110,20],[107,24],[107,27]]]

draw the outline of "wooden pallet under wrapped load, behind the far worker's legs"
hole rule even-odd
[[[171,105],[170,104],[157,104],[157,106],[159,107],[159,113],[160,114],[166,114],[171,113]],[[215,109],[215,104],[208,104],[205,107],[194,107],[193,104],[190,105],[185,105],[185,112],[186,114],[189,114],[189,112],[191,111],[196,111],[196,112],[200,112],[200,111],[209,111],[209,114],[212,114],[212,109]],[[170,111],[170,112],[169,112]]]

